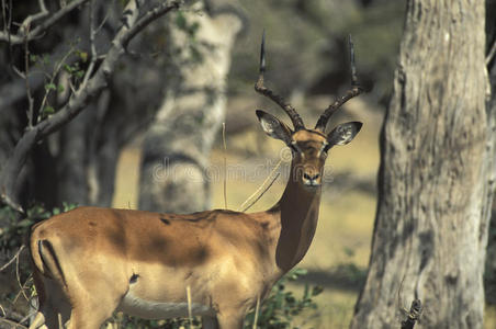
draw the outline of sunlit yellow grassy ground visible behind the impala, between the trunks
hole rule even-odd
[[[305,283],[323,286],[324,292],[315,298],[318,304],[316,311],[295,319],[294,325],[300,328],[348,328],[367,274],[375,216],[382,115],[379,111],[353,106],[347,111],[351,113],[351,120],[360,120],[364,125],[351,144],[334,148],[326,163],[327,179],[323,188],[317,231],[308,253],[298,265],[308,274],[289,285],[295,295],[303,294]],[[282,158],[281,174],[248,212],[267,209],[279,200],[286,183],[284,173],[289,164],[288,151],[282,143],[266,137],[253,125],[243,133],[228,135],[227,151],[222,147],[222,139],[217,145],[212,152],[210,170],[213,208],[225,207],[224,172],[227,172],[227,207],[238,209]],[[137,207],[139,157],[138,143],[122,154],[115,207]],[[408,307],[413,296],[402,298],[404,306]],[[401,320],[398,309],[398,325]],[[488,309],[485,322],[485,328],[496,328],[496,309]]]

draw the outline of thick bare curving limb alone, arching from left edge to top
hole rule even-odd
[[[12,156],[7,160],[0,174],[0,193],[4,203],[9,202],[15,209],[22,209],[14,200],[15,181],[34,145],[78,115],[84,110],[88,102],[106,87],[108,79],[113,73],[119,58],[124,54],[125,46],[133,36],[154,20],[178,8],[178,1],[171,1],[169,4],[159,3],[139,18],[139,7],[136,0],[128,2],[122,16],[124,23],[114,36],[112,46],[102,64],[89,78],[86,88],[78,89],[58,112],[26,131],[15,145]]]

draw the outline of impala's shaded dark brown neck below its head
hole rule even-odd
[[[286,189],[281,200],[269,211],[275,213],[275,219],[280,220],[274,248],[275,264],[283,273],[296,265],[308,250],[317,227],[320,204],[320,186],[313,190],[304,188],[297,172],[292,163]]]

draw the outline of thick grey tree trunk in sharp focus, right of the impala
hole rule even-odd
[[[398,328],[399,307],[414,298],[421,328],[482,328],[495,178],[484,22],[482,0],[407,1],[369,274],[351,328]]]

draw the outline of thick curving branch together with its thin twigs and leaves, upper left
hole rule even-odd
[[[24,45],[24,52],[26,57],[25,69],[29,69],[30,54],[29,54],[29,43],[30,41],[42,37],[47,30],[54,25],[61,16],[69,13],[72,9],[78,5],[88,2],[88,0],[75,0],[69,4],[60,8],[57,12],[49,15],[47,12],[44,1],[40,0],[41,11],[38,14],[33,14],[27,16],[21,24],[21,27],[16,34],[11,34],[12,22],[4,20],[3,32],[0,33],[0,42],[8,43],[10,47],[15,45]],[[10,205],[14,209],[22,212],[21,205],[16,202],[15,197],[15,182],[18,175],[23,168],[30,151],[33,149],[35,144],[49,134],[56,132],[61,126],[67,124],[76,115],[84,110],[88,102],[97,97],[108,83],[109,78],[113,73],[119,58],[126,52],[128,43],[133,37],[138,34],[143,29],[145,29],[149,23],[154,22],[158,18],[167,14],[172,10],[177,10],[180,7],[180,1],[160,1],[154,4],[151,8],[143,5],[142,1],[132,0],[124,8],[121,22],[122,25],[114,35],[111,46],[105,54],[97,54],[94,37],[98,29],[94,24],[94,18],[92,14],[93,1],[90,3],[90,52],[91,54],[86,56],[90,57],[88,68],[81,70],[76,65],[64,66],[64,60],[60,60],[59,66],[55,68],[55,72],[52,76],[50,81],[45,84],[45,98],[42,101],[42,110],[37,121],[34,122],[32,101],[30,101],[30,109],[26,111],[29,116],[29,127],[24,132],[23,136],[16,143],[12,155],[7,160],[7,163],[2,168],[0,173],[0,196],[4,204]],[[146,8],[146,9],[145,9]],[[5,5],[3,5],[3,13],[5,13]],[[11,11],[11,8],[9,8]],[[5,16],[5,15],[4,15]],[[9,15],[10,18],[10,15]],[[38,20],[45,19],[36,27],[31,29]],[[7,22],[9,21],[9,22]],[[98,60],[103,58],[101,63]],[[53,90],[60,90],[54,83],[53,77],[61,69],[69,70],[70,73],[79,76],[80,83],[78,86],[71,86],[70,95],[68,101],[60,109],[53,109],[46,103],[46,95]],[[29,86],[29,79],[25,72],[20,72],[24,75],[26,81],[27,98],[31,98],[31,91]]]

